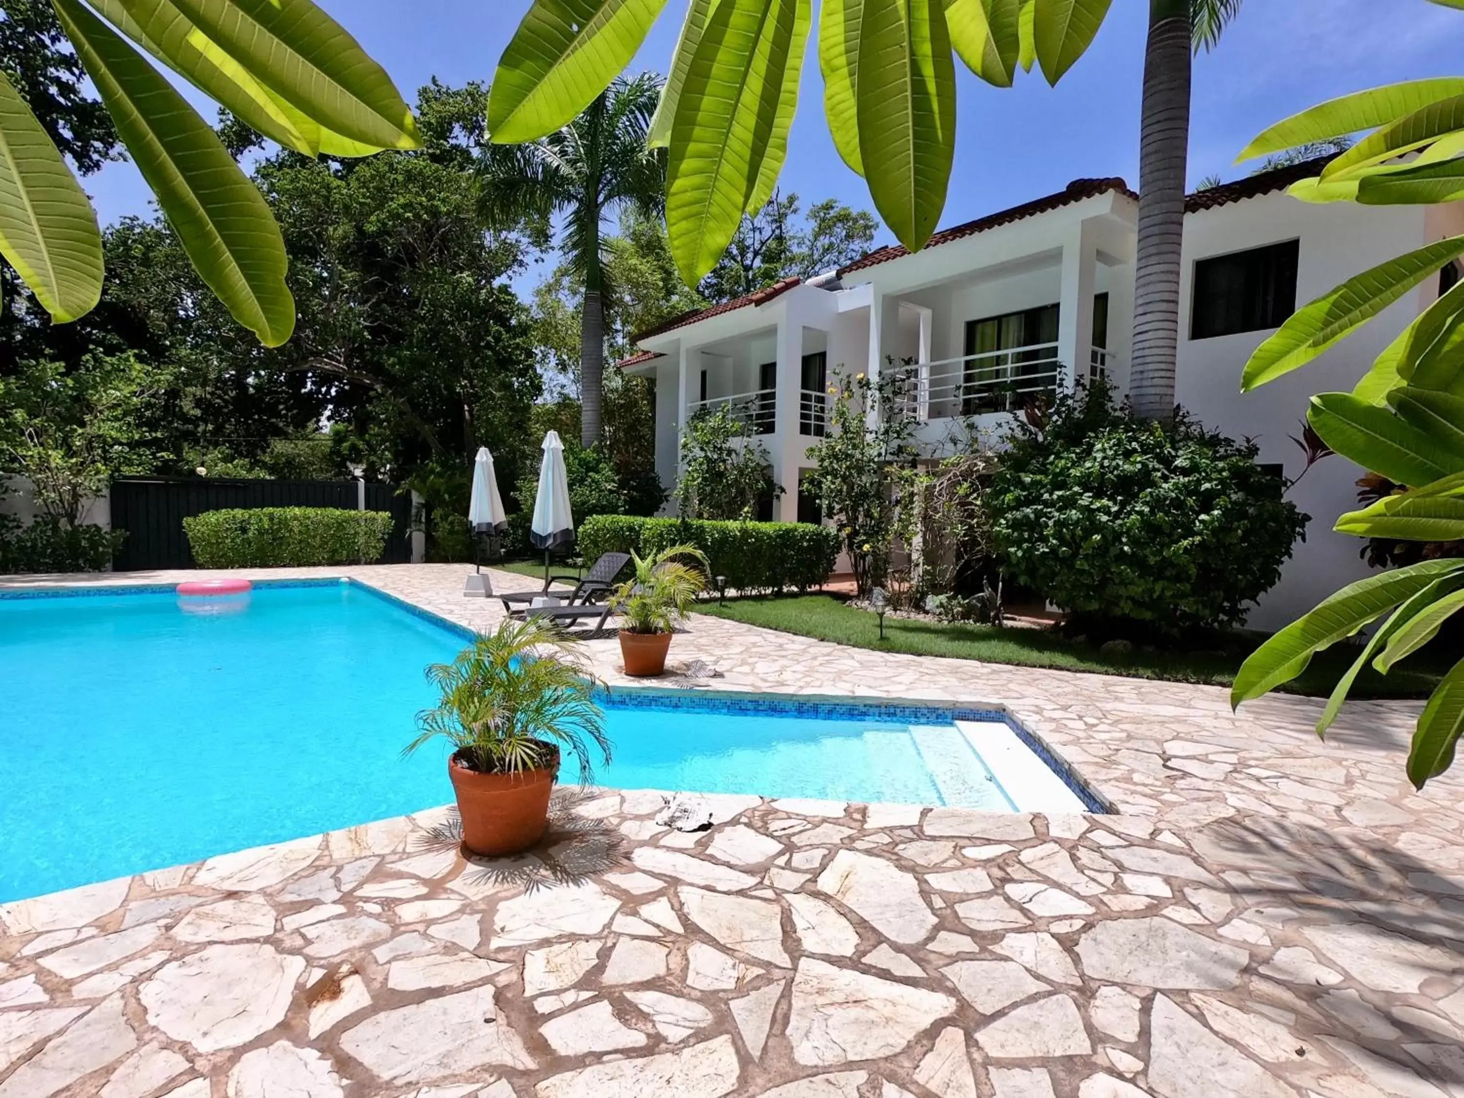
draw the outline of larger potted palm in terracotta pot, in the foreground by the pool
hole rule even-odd
[[[417,714],[411,754],[442,736],[463,818],[463,846],[488,856],[533,846],[549,820],[549,793],[565,752],[587,783],[591,754],[610,761],[605,719],[575,641],[550,622],[505,619],[451,663],[433,663],[433,709]]]

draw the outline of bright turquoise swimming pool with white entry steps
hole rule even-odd
[[[346,581],[256,586],[224,615],[158,589],[0,593],[0,902],[451,801],[445,747],[401,748],[433,701],[423,668],[466,635]],[[1000,713],[618,690],[606,726],[596,780],[619,788],[1091,798],[1013,747]]]

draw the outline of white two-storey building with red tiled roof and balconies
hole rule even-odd
[[[1261,460],[1288,477],[1304,464],[1293,436],[1307,398],[1353,388],[1448,275],[1252,394],[1240,392],[1246,359],[1299,305],[1464,233],[1464,203],[1309,205],[1284,193],[1316,170],[1284,168],[1199,192],[1184,223],[1179,403],[1208,426],[1256,439]],[[796,486],[813,464],[807,448],[823,433],[827,378],[839,369],[878,372],[887,356],[918,365],[919,438],[933,454],[966,423],[997,438],[1023,394],[1070,388],[1097,370],[1126,392],[1136,221],[1138,196],[1121,179],[1075,180],[937,233],[918,253],[881,247],[823,278],[788,280],[644,332],[643,353],[621,367],[656,382],[662,480],[676,482],[681,425],[701,408],[732,404],[786,488],[772,517],[796,521]],[[1367,574],[1362,542],[1331,530],[1354,507],[1360,474],[1331,457],[1291,490],[1312,515],[1306,542],[1249,624],[1278,628]]]

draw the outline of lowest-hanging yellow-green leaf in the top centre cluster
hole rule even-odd
[[[688,284],[716,266],[757,189],[783,85],[798,81],[807,10],[808,0],[720,0],[701,32],[666,167],[666,233]]]

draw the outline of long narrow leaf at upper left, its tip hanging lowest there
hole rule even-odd
[[[294,300],[284,283],[284,240],[264,196],[157,69],[78,0],[54,4],[199,277],[265,346],[288,340]]]

